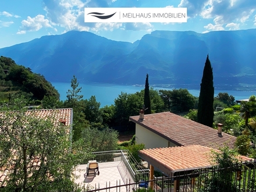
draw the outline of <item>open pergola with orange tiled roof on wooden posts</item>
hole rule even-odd
[[[140,150],[138,155],[150,164],[150,180],[154,179],[154,168],[161,170],[166,176],[176,176],[180,172],[206,168],[212,166],[211,151],[218,151],[202,145],[182,147],[166,147]],[[239,155],[241,161],[250,161],[251,158]],[[154,183],[150,182],[152,189]],[[175,191],[179,190],[180,180],[175,180]]]

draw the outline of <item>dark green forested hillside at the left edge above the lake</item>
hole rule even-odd
[[[0,91],[2,101],[20,95],[35,100],[41,100],[45,95],[59,98],[58,91],[44,76],[4,56],[0,57]]]

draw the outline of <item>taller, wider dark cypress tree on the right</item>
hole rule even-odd
[[[197,120],[198,123],[212,127],[214,122],[214,75],[208,55],[200,86]]]

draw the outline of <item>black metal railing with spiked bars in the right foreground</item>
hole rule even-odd
[[[156,177],[137,182],[129,180],[126,184],[94,189],[94,191],[186,191],[186,192],[240,192],[256,191],[256,160],[237,163],[227,168],[212,166],[208,168],[182,170],[173,176]]]

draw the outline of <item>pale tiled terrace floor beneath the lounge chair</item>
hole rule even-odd
[[[75,180],[77,184],[81,184],[81,186],[90,186],[95,189],[102,189],[109,186],[117,186],[125,184],[123,182],[122,176],[120,175],[120,168],[118,169],[120,161],[118,162],[104,162],[99,163],[99,175],[96,173],[94,175],[86,176],[86,168],[87,164],[79,165],[76,168],[75,175],[79,176],[78,179]],[[109,191],[109,190],[108,190]],[[116,191],[115,188],[110,191]],[[120,187],[120,192],[126,192],[126,187]]]

